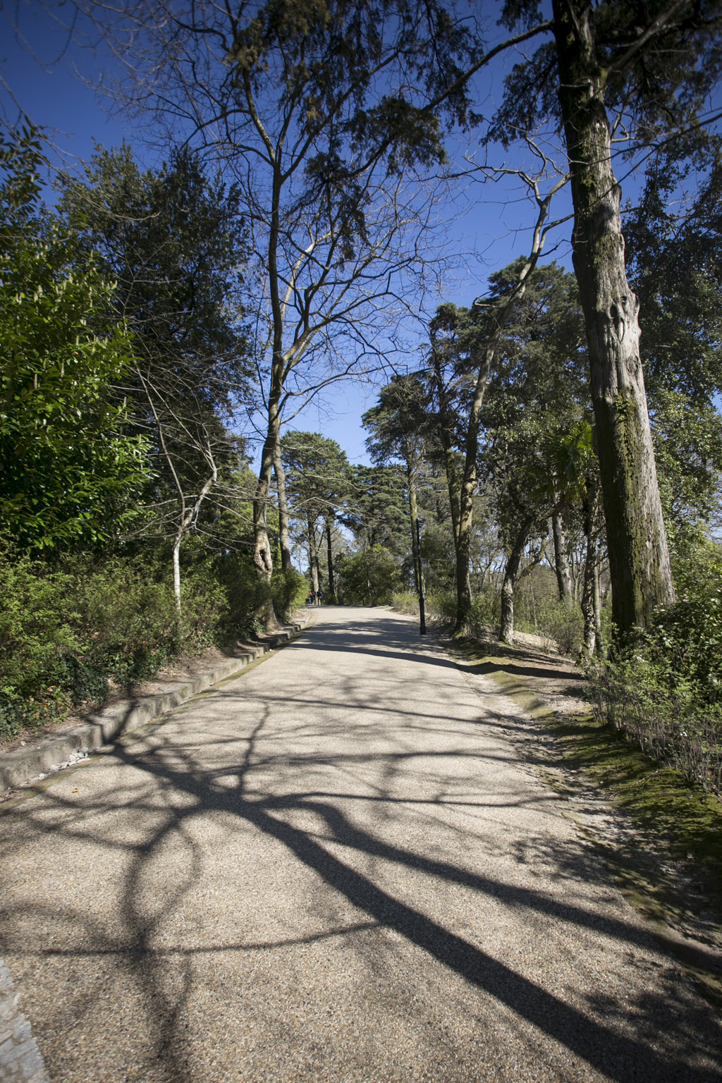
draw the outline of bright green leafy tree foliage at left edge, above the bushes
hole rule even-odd
[[[108,537],[147,477],[145,441],[126,435],[110,390],[130,338],[94,329],[113,289],[42,211],[41,161],[30,134],[0,142],[0,534],[25,549]]]

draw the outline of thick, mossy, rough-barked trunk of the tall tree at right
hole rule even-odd
[[[560,103],[574,204],[573,257],[585,313],[615,624],[648,623],[674,600],[619,204],[588,0],[553,0]]]

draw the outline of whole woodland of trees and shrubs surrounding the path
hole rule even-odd
[[[579,657],[601,712],[722,791],[722,11],[514,3],[489,40],[421,6],[121,4],[97,25],[133,31],[117,93],[166,162],[99,147],[51,210],[40,133],[5,132],[0,738],[310,589],[410,610],[423,588],[459,635]],[[478,115],[475,76],[522,45]],[[404,354],[459,131],[528,196],[531,240]],[[642,169],[623,226],[617,158]],[[569,219],[574,274],[543,258]],[[384,358],[372,466],[297,431]]]

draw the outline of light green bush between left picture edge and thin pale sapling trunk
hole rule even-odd
[[[179,652],[172,592],[148,571],[86,557],[0,561],[0,739],[102,702],[108,679],[128,686]]]

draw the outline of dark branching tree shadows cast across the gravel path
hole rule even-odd
[[[353,624],[347,628],[344,626],[339,629],[338,635],[336,629],[321,627],[314,636],[314,642],[304,645],[304,650],[352,650],[350,647],[339,645],[344,639],[347,641],[349,629],[355,644],[353,650],[356,652],[412,657],[408,636],[399,634],[395,639],[391,636],[391,642],[379,650],[378,632],[369,631],[360,623],[357,627]],[[422,658],[419,657],[418,661]],[[433,655],[429,657],[425,652],[423,661],[455,665],[447,661],[442,663]],[[224,690],[223,695],[238,695],[240,699],[242,692]],[[159,743],[153,748],[139,751],[118,744],[110,754],[117,764],[140,772],[140,777],[137,773],[133,774],[135,785],[140,787],[141,780],[145,779],[147,785],[136,795],[133,814],[140,818],[147,813],[153,826],[143,841],[132,849],[119,915],[123,936],[115,939],[109,937],[100,923],[92,928],[88,924],[88,936],[97,954],[119,954],[123,967],[133,976],[146,1005],[148,1031],[154,1035],[154,1056],[163,1066],[166,1079],[178,1083],[191,1083],[193,1080],[193,1070],[183,1053],[184,1035],[179,1032],[178,1023],[191,993],[191,960],[194,949],[171,947],[173,957],[180,957],[182,966],[174,991],[170,992],[165,988],[162,974],[166,950],[156,947],[154,937],[170,921],[180,901],[192,892],[200,875],[198,843],[188,830],[191,822],[205,814],[222,813],[224,822],[252,827],[260,835],[280,844],[336,896],[359,912],[345,929],[338,930],[338,935],[349,934],[354,929],[394,930],[471,987],[511,1009],[542,1035],[559,1043],[563,1049],[569,1051],[614,1083],[629,1083],[633,1080],[644,1083],[718,1083],[722,1074],[719,1023],[701,1003],[695,1002],[695,1006],[691,1006],[683,992],[677,991],[671,982],[664,984],[660,981],[656,991],[651,990],[639,997],[634,1005],[625,1005],[623,1008],[618,1004],[605,1004],[600,993],[596,1003],[590,1000],[589,1010],[583,1010],[493,957],[477,943],[447,928],[442,921],[430,917],[408,901],[395,898],[390,890],[376,883],[371,875],[354,867],[350,861],[339,857],[337,851],[343,847],[353,856],[381,859],[392,862],[399,870],[425,874],[436,882],[439,892],[447,892],[454,886],[463,886],[477,892],[480,898],[490,897],[523,912],[544,914],[555,922],[564,922],[579,929],[599,930],[600,935],[613,937],[629,945],[630,950],[633,945],[643,950],[649,948],[649,938],[642,929],[623,918],[601,917],[599,913],[588,911],[582,905],[560,898],[552,899],[542,890],[502,884],[450,860],[429,857],[410,847],[394,845],[368,827],[352,822],[332,803],[332,795],[310,790],[276,794],[266,788],[264,792],[264,785],[267,785],[263,782],[265,775],[258,772],[274,768],[261,749],[271,710],[271,707],[266,708],[247,738],[238,736],[237,744],[245,745],[242,754],[239,747],[236,762],[226,761],[222,768],[204,768],[198,762],[197,746],[184,748],[178,736],[172,739],[172,743],[165,744],[160,731]],[[464,755],[462,751],[459,754]],[[373,758],[371,753],[366,756],[367,761]],[[396,770],[393,755],[380,752],[377,758],[390,771]],[[341,767],[343,755],[339,754],[338,759],[338,766]],[[317,766],[328,768],[333,765],[333,756],[310,749],[303,754],[302,761],[309,769]],[[362,803],[398,800],[392,796],[391,790],[372,796],[368,793],[346,792],[341,797],[343,800]],[[75,806],[51,792],[44,795],[44,799],[51,805],[55,804],[58,834],[71,835],[79,830]],[[90,818],[92,823],[93,817],[111,811],[115,800],[113,794],[96,798],[93,807],[86,807],[83,810],[86,822]],[[415,798],[410,796],[409,800],[412,804]],[[450,800],[448,804],[455,803]],[[444,799],[441,798],[437,805],[443,807]],[[312,814],[315,826],[300,827],[289,822],[294,814],[306,818]],[[181,847],[186,858],[175,888],[163,897],[162,903],[153,914],[144,914],[139,902],[139,885],[143,883],[153,856],[168,840]],[[560,866],[564,865],[563,854],[556,854],[556,860]],[[600,883],[606,883],[601,866],[594,866],[593,863],[586,866],[585,875],[588,878],[596,876]],[[242,889],[239,878],[238,892],[242,892]],[[71,913],[68,912],[65,919],[73,921]],[[75,919],[79,924],[87,921],[81,913],[75,915]],[[329,930],[328,935],[334,936],[337,930]],[[294,941],[289,939],[287,942]],[[281,941],[271,941],[263,947],[271,948],[276,943]],[[250,943],[231,943],[224,944],[223,950],[247,951],[250,947]],[[62,950],[58,949],[58,952]],[[67,955],[73,955],[77,950],[79,949],[69,947]],[[678,1035],[678,1052],[669,1052],[669,1042],[667,1052],[659,1052],[660,1043],[664,1045],[671,1034]],[[703,1059],[708,1058],[718,1066],[717,1069],[692,1064],[690,1058],[696,1055]],[[572,1069],[573,1072],[575,1070]],[[574,1079],[575,1075],[569,1074],[568,1078]]]

